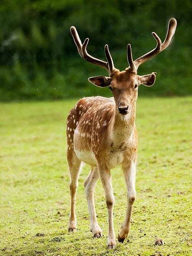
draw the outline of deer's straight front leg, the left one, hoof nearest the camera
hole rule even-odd
[[[103,184],[104,192],[105,192],[105,199],[106,205],[108,209],[108,249],[115,249],[116,248],[116,241],[115,241],[115,232],[113,226],[113,207],[115,203],[113,188],[112,188],[112,181],[111,181],[111,173],[110,170],[99,167],[99,175],[101,178],[101,182]]]

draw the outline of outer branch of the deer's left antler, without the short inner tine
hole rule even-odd
[[[77,33],[77,30],[75,27],[71,27],[71,35],[73,36],[73,39],[74,39],[74,42],[77,46],[77,49],[78,49],[78,52],[79,52],[79,55],[86,61],[90,62],[90,63],[93,63],[97,66],[100,66],[101,68],[105,68],[109,73],[109,66],[108,66],[108,63],[107,62],[104,62],[103,60],[99,60],[97,58],[94,58],[93,56],[89,55],[89,53],[87,52],[86,50],[86,47],[88,45],[88,42],[89,42],[89,38],[86,38],[83,45],[81,43],[81,40],[79,38],[79,35]],[[111,55],[110,55],[111,56]],[[112,61],[113,62],[113,61]]]

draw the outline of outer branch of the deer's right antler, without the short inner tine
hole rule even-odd
[[[168,28],[167,28],[166,39],[164,40],[163,43],[161,43],[161,39],[158,37],[158,35],[155,32],[152,32],[153,37],[157,41],[157,46],[156,46],[156,48],[151,50],[151,52],[148,52],[145,55],[142,55],[141,57],[137,58],[134,61],[135,65],[136,65],[136,69],[142,63],[146,62],[150,58],[152,58],[155,55],[157,55],[158,53],[162,52],[163,50],[165,50],[169,46],[171,38],[173,37],[173,35],[175,33],[176,26],[177,26],[177,21],[175,20],[175,18],[171,18],[169,20],[169,25],[168,25]]]

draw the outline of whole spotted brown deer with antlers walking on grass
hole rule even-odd
[[[133,60],[131,45],[127,45],[127,61],[129,67],[119,71],[114,67],[108,45],[104,52],[107,62],[99,60],[86,50],[89,39],[81,43],[75,27],[71,34],[77,46],[79,55],[89,63],[93,63],[108,71],[109,76],[94,76],[88,78],[93,85],[111,90],[112,97],[92,96],[81,98],[71,109],[67,118],[67,160],[70,172],[71,209],[68,232],[77,231],[76,224],[76,192],[82,163],[90,165],[90,172],[84,181],[85,195],[90,215],[90,229],[94,238],[102,237],[94,204],[94,190],[97,181],[101,179],[104,188],[106,207],[108,211],[107,248],[116,248],[116,236],[113,225],[114,194],[111,180],[111,169],[122,166],[126,182],[127,208],[124,222],[119,230],[118,241],[123,243],[131,227],[131,214],[136,199],[136,159],[137,159],[137,129],[136,100],[139,86],[152,86],[156,80],[156,72],[149,75],[137,75],[138,67],[165,50],[175,33],[177,21],[169,20],[167,35],[164,42],[152,32],[157,45],[150,52]]]

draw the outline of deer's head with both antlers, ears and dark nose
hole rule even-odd
[[[105,68],[109,76],[94,76],[90,77],[88,80],[93,85],[99,87],[106,87],[109,86],[109,89],[112,91],[114,96],[114,100],[116,103],[116,111],[121,115],[126,115],[130,113],[132,110],[132,106],[137,100],[138,95],[138,87],[139,85],[145,86],[152,86],[156,80],[156,72],[152,72],[149,75],[137,75],[138,67],[149,60],[150,58],[154,57],[158,53],[165,50],[170,42],[171,38],[175,33],[175,29],[177,26],[177,21],[175,18],[171,18],[169,20],[169,25],[167,29],[167,35],[163,43],[161,43],[161,39],[155,32],[152,32],[153,37],[157,41],[157,46],[150,52],[142,55],[141,57],[137,58],[133,61],[132,52],[131,52],[131,45],[127,45],[127,60],[129,63],[129,67],[126,68],[124,71],[119,71],[114,67],[113,59],[109,52],[108,45],[105,45],[104,51],[106,55],[107,62],[103,60],[99,60],[97,58],[92,57],[88,54],[86,47],[88,45],[89,39],[86,38],[84,43],[81,43],[79,35],[76,31],[75,27],[71,27],[71,34],[73,36],[74,42],[78,48],[79,55],[86,61],[93,63],[97,66]]]

